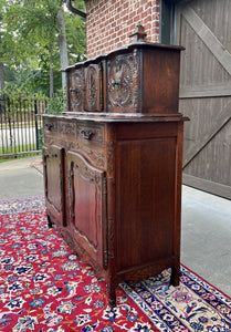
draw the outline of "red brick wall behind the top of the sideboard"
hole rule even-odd
[[[87,0],[87,58],[128,44],[138,22],[147,41],[159,42],[159,1]]]

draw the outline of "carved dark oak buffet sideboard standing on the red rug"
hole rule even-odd
[[[49,226],[98,276],[171,267],[179,283],[183,117],[180,46],[137,41],[66,69],[67,112],[44,115]]]

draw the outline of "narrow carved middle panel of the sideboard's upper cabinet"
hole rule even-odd
[[[101,64],[90,64],[84,69],[85,111],[102,111],[102,69]]]

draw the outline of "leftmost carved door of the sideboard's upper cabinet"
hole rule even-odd
[[[69,111],[81,112],[84,105],[84,76],[82,69],[72,69],[67,76]]]

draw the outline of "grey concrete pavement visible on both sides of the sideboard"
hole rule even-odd
[[[0,200],[44,195],[40,167],[41,157],[0,163]],[[231,201],[182,186],[181,225],[181,262],[231,297]]]

